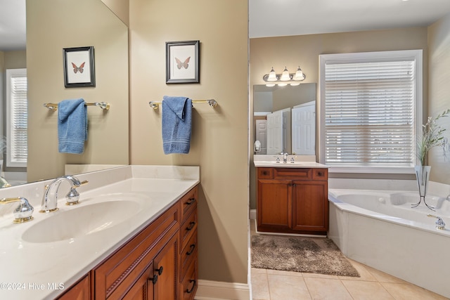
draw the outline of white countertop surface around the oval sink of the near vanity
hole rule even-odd
[[[34,220],[27,223],[12,223],[12,214],[1,216],[0,299],[53,299],[62,294],[197,185],[200,173],[199,167],[128,166],[82,174],[77,178],[80,181],[88,178],[89,184],[77,188],[80,204],[73,208],[101,202],[117,193],[139,197],[143,203],[141,210],[111,228],[79,238],[42,243],[27,242],[22,239],[22,235],[27,228],[51,218],[52,214],[72,209],[65,206],[64,198],[58,201],[59,211],[50,214],[39,213],[41,195],[36,195],[36,199],[28,199],[34,206]],[[111,183],[96,186],[96,181]],[[46,182],[32,183],[36,184],[39,184],[39,188],[32,189],[41,190]],[[14,188],[18,194],[15,197],[20,196],[21,192],[28,193],[20,190],[20,187]],[[26,189],[27,185],[23,188]],[[6,193],[10,195],[3,195],[5,193],[2,192],[0,190],[0,197],[13,197],[11,190]],[[65,190],[61,194],[65,195]],[[11,205],[12,211],[17,203],[8,205]]]

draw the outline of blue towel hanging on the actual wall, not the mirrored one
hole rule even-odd
[[[189,153],[191,148],[192,100],[162,98],[162,148],[165,154]]]

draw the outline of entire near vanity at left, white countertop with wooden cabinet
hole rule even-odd
[[[89,181],[77,188],[79,204],[60,196],[47,214],[39,213],[45,181],[0,190],[34,207],[34,219],[19,224],[0,207],[0,299],[193,299],[199,167],[77,177]]]

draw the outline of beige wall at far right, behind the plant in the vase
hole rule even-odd
[[[450,108],[450,14],[428,27],[429,48],[429,96],[428,112],[435,117]],[[439,124],[450,136],[450,117]],[[428,164],[432,166],[430,180],[450,184],[450,155],[444,158],[442,150],[434,148],[429,152]]]

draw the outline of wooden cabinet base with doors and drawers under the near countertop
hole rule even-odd
[[[58,299],[193,299],[197,195],[195,187]]]

